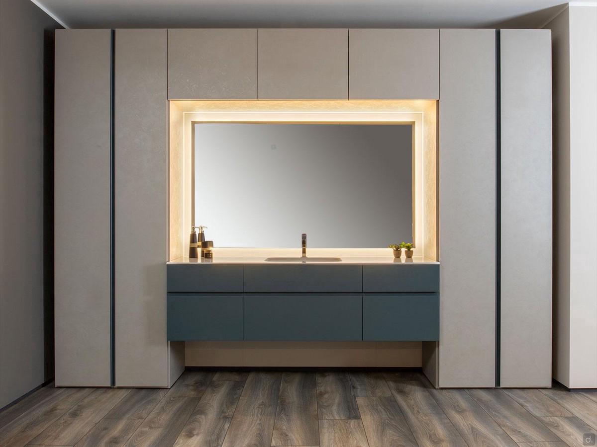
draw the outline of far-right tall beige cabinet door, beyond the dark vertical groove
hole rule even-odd
[[[552,88],[549,30],[501,30],[501,386],[549,387]]]

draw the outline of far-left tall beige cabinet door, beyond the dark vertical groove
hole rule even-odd
[[[110,386],[110,30],[57,30],[57,386]]]

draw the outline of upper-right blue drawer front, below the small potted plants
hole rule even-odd
[[[438,292],[439,265],[364,265],[365,292]]]

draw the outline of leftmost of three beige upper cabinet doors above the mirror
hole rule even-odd
[[[256,29],[169,29],[169,100],[256,100]]]

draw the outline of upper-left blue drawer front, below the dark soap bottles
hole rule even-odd
[[[166,266],[168,292],[242,292],[242,265]]]

